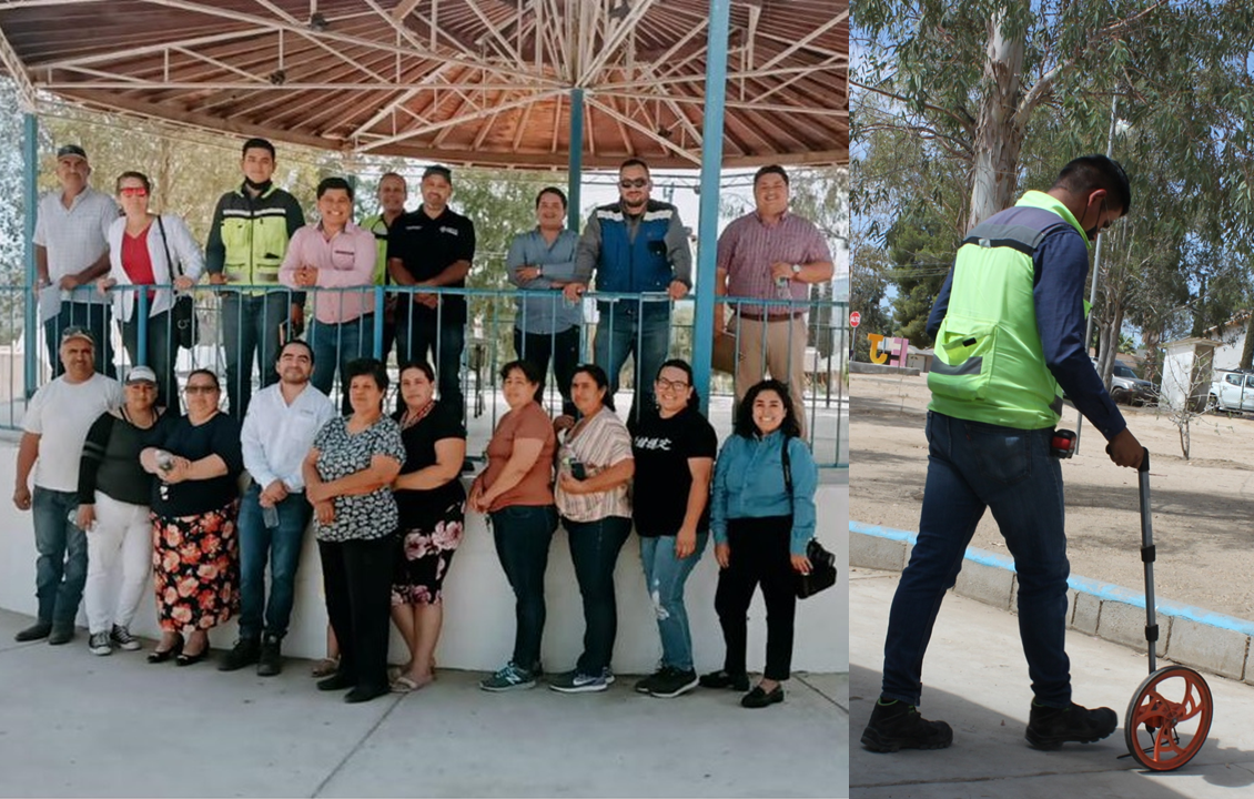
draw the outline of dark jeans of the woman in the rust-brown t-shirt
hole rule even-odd
[[[497,557],[514,590],[515,666],[534,671],[540,662],[544,637],[544,569],[557,529],[554,505],[508,505],[492,514],[492,538]]]

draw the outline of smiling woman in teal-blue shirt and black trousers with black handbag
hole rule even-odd
[[[819,479],[799,433],[788,386],[762,380],[745,393],[715,469],[710,527],[721,571],[714,603],[727,653],[722,670],[702,676],[701,685],[749,691],[740,700],[745,707],[784,701],[780,684],[793,667],[794,572],[810,572],[805,547],[814,537]],[[766,602],[766,667],[749,690],[746,617],[759,585]]]

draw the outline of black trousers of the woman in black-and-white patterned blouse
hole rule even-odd
[[[326,613],[340,642],[340,674],[357,687],[387,687],[387,635],[396,536],[317,542]]]

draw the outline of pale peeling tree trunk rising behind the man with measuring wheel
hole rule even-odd
[[[988,90],[979,104],[976,128],[976,161],[971,188],[971,216],[967,230],[979,225],[1014,197],[1023,130],[1016,118],[1023,71],[1023,34],[1008,39],[1003,34],[1006,13],[988,19],[988,46],[984,80]]]

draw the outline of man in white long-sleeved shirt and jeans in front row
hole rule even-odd
[[[285,344],[275,365],[278,383],[258,391],[243,418],[240,443],[252,485],[240,505],[240,638],[218,666],[221,671],[257,664],[257,674],[268,677],[282,670],[280,646],[292,615],[305,528],[314,513],[305,500],[301,464],[314,437],[335,416],[331,400],[310,385],[314,369],[310,345],[300,339]]]

